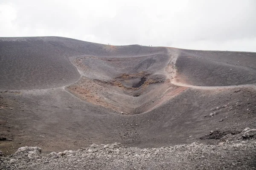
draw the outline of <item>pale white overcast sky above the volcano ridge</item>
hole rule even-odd
[[[256,0],[0,0],[0,37],[256,51]]]

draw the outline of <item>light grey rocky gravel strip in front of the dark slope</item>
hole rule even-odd
[[[253,136],[246,133],[226,135],[215,145],[193,142],[192,144],[145,149],[125,147],[119,143],[92,144],[90,147],[77,151],[65,150],[59,153],[41,154],[40,147],[20,147],[16,153],[0,157],[0,169],[255,170],[256,139],[254,134]],[[250,138],[244,138],[248,136]]]

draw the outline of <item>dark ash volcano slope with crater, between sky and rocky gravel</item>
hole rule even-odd
[[[251,52],[0,38],[0,150],[10,155],[19,147],[38,146],[50,153],[114,142],[140,148],[198,142],[218,148],[219,142],[233,146],[245,140],[248,160],[230,161],[248,152],[238,149],[233,157],[220,153],[226,159],[215,163],[224,159],[227,167],[250,169],[255,136],[253,131],[241,136],[246,127],[256,129],[255,83],[256,53]],[[169,163],[163,164],[159,167]],[[150,166],[136,169],[158,165]]]

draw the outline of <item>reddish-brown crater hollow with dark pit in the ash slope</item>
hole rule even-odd
[[[86,68],[82,64],[84,63],[83,59],[79,58],[73,61],[73,63],[80,63],[76,65],[79,72]],[[107,61],[109,65],[115,64],[111,62],[116,62],[113,58]],[[154,67],[154,63],[153,59],[145,59],[139,65],[141,65],[140,67],[147,65],[145,69],[148,69],[150,66]],[[123,67],[123,70],[128,70],[121,64],[122,62],[120,62],[120,67]],[[137,68],[140,67],[137,66]],[[129,68],[129,70],[136,69]],[[105,79],[90,79],[83,76],[79,82],[68,86],[67,89],[79,98],[95,105],[111,108],[113,112],[139,114],[157,107],[160,102],[163,102],[166,91],[172,87],[166,75],[157,74],[157,71],[122,73],[116,77],[108,76],[107,78],[102,75]],[[97,73],[92,73],[93,71],[90,69],[90,72],[90,74],[97,74],[100,77],[99,70]],[[115,70],[111,70],[111,72],[115,72]]]

